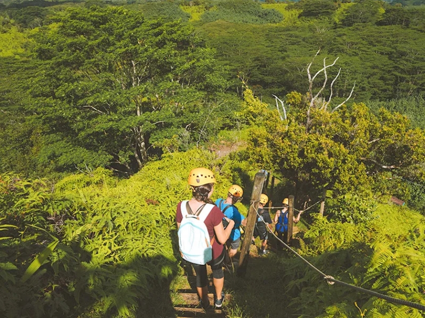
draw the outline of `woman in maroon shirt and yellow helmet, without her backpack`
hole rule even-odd
[[[197,211],[205,203],[214,204],[210,199],[212,192],[214,191],[214,184],[216,178],[214,173],[206,168],[193,169],[189,174],[189,185],[192,188],[192,199],[189,200],[189,206],[192,211]],[[182,202],[177,205],[176,222],[177,228],[180,227],[180,223],[183,220]],[[224,260],[224,248],[223,244],[226,243],[233,229],[233,223],[224,229],[222,220],[225,218],[228,222],[234,223],[233,220],[227,219],[222,211],[214,205],[209,215],[206,217],[204,223],[208,230],[209,238],[214,242],[212,243],[212,260],[208,262],[208,265],[212,270],[212,281],[214,288],[216,289],[215,306],[221,307],[224,300],[224,273],[223,273],[223,260]],[[196,290],[199,295],[200,305],[202,308],[207,309],[209,307],[208,300],[208,278],[206,275],[206,265],[199,265],[191,263],[196,273]]]

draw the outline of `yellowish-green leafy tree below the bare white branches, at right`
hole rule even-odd
[[[374,181],[411,173],[425,159],[425,134],[400,114],[381,109],[375,116],[362,103],[328,112],[294,96],[288,94],[288,119],[270,114],[247,151],[253,163],[287,179],[300,201],[315,202],[324,190],[339,210],[360,200],[363,206],[350,206],[355,221],[355,212],[366,216],[361,209],[371,206]]]

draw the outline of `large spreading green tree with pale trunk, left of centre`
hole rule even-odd
[[[157,132],[197,131],[210,108],[220,110],[208,96],[223,91],[223,72],[191,27],[98,6],[55,21],[34,37],[44,63],[30,106],[45,127],[40,164],[69,170],[90,158],[130,173]]]

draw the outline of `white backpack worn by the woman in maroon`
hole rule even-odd
[[[181,210],[183,220],[180,223],[179,246],[182,257],[187,261],[203,265],[212,259],[212,242],[204,223],[214,204],[205,203],[197,213],[193,214],[188,201],[182,201]],[[189,210],[189,211],[188,211]]]

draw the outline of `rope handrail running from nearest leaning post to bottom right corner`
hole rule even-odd
[[[253,202],[253,201],[252,201]],[[320,202],[320,201],[319,201]],[[316,204],[316,203],[315,203]],[[313,206],[313,205],[312,205]],[[411,301],[408,301],[408,300],[403,300],[403,299],[399,299],[399,298],[394,298],[394,297],[391,297],[391,296],[387,296],[387,295],[384,295],[384,294],[381,294],[381,293],[378,293],[378,292],[375,292],[375,291],[373,291],[373,290],[368,290],[368,289],[365,289],[365,288],[362,288],[362,287],[358,287],[358,286],[355,286],[355,285],[351,285],[351,284],[348,284],[348,283],[345,283],[345,282],[342,282],[342,281],[339,281],[339,280],[336,280],[336,279],[334,279],[332,276],[330,276],[330,275],[326,275],[326,274],[324,274],[322,271],[320,271],[318,268],[316,268],[312,263],[310,263],[307,259],[305,259],[303,256],[301,256],[299,253],[297,253],[295,250],[293,250],[289,245],[287,245],[285,242],[283,242],[280,238],[278,238],[277,237],[277,235],[276,234],[274,234],[271,230],[270,230],[270,228],[267,226],[268,225],[268,223],[266,223],[264,220],[263,220],[263,218],[261,218],[261,216],[260,216],[260,214],[258,213],[258,209],[255,209],[255,211],[256,211],[256,213],[257,213],[257,216],[258,217],[260,217],[260,219],[261,219],[261,221],[266,225],[266,229],[267,229],[267,231],[270,233],[270,234],[272,234],[278,241],[280,241],[282,244],[283,244],[283,246],[285,246],[285,248],[287,248],[288,250],[290,250],[292,253],[294,253],[296,256],[298,256],[298,257],[300,257],[310,268],[312,268],[313,270],[315,270],[317,273],[319,273],[320,275],[322,275],[323,276],[323,279],[329,284],[329,285],[333,285],[334,283],[337,283],[337,284],[339,284],[339,285],[342,285],[342,286],[345,286],[345,287],[348,287],[348,288],[351,288],[351,289],[354,289],[354,290],[357,290],[357,291],[361,291],[361,292],[365,292],[365,293],[367,293],[367,294],[369,294],[369,295],[372,295],[372,296],[375,296],[375,297],[377,297],[377,298],[381,298],[381,299],[385,299],[385,300],[387,300],[387,301],[389,301],[389,302],[392,302],[392,303],[396,303],[396,304],[401,304],[401,305],[405,305],[405,306],[409,306],[409,307],[412,307],[412,308],[416,308],[416,309],[419,309],[419,310],[423,310],[423,311],[425,311],[425,306],[424,305],[421,305],[421,304],[418,304],[418,303],[414,303],[414,302],[411,302]]]

